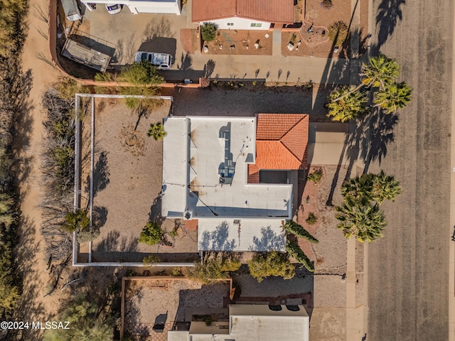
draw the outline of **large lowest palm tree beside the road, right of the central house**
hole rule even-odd
[[[346,197],[343,204],[335,209],[338,212],[336,219],[340,221],[336,227],[343,231],[346,238],[355,236],[358,242],[370,243],[382,237],[382,229],[387,223],[377,203],[372,205],[366,197],[360,200]]]

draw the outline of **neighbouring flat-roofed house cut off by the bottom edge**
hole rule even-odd
[[[308,341],[309,315],[303,305],[230,305],[228,321],[193,321],[189,331],[168,330],[168,341],[189,340]]]

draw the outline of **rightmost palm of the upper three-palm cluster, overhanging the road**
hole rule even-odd
[[[381,107],[385,114],[392,114],[402,109],[411,101],[412,87],[405,82],[392,82],[376,93],[375,105]]]

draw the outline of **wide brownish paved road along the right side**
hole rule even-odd
[[[449,340],[453,1],[373,0],[373,9],[381,13],[381,3],[399,2],[406,4],[392,36],[390,17],[376,36],[382,53],[402,65],[414,99],[400,112],[380,166],[395,174],[404,193],[384,205],[386,237],[369,247],[367,340]],[[370,171],[380,167],[373,163]]]

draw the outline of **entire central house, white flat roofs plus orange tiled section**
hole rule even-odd
[[[308,117],[289,115],[289,120],[287,114],[166,119],[161,214],[198,220],[199,250],[285,250],[282,226],[292,217],[296,188],[293,193],[293,185],[287,181],[259,183],[257,179],[250,183],[248,180],[250,166],[256,165],[255,169],[259,170],[262,166],[275,165],[268,159],[274,155],[262,156],[267,144],[257,141],[256,136],[262,136],[269,117],[272,121],[287,122],[284,128],[275,127],[273,136],[282,134],[284,129],[288,132],[269,144],[283,144],[286,152],[293,153],[293,158],[291,163],[268,169],[306,168]]]

